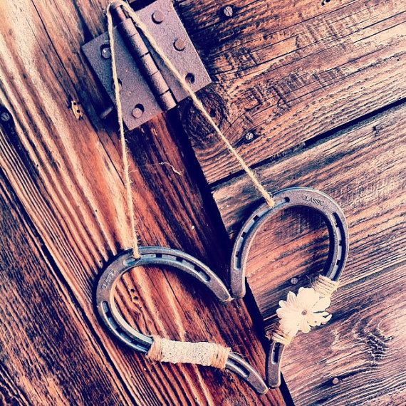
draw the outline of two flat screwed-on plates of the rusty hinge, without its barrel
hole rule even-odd
[[[159,11],[163,16],[162,22],[157,24],[153,15]],[[140,19],[147,26],[148,31],[154,36],[155,41],[160,45],[162,51],[165,52],[175,68],[184,77],[191,78],[189,84],[194,91],[197,91],[204,86],[211,83],[209,74],[199,54],[193,46],[192,41],[187,35],[182,21],[180,21],[177,12],[175,11],[172,1],[170,0],[157,0],[152,4],[146,6],[139,11],[136,11]],[[142,76],[140,68],[132,57],[123,37],[118,32],[118,28],[114,28],[115,50],[117,60],[118,78],[121,84],[121,103],[123,105],[123,120],[129,130],[146,123],[155,115],[162,112],[162,108],[158,104],[154,93],[148,85],[145,78]],[[178,51],[175,48],[176,40],[183,40],[184,49]],[[166,66],[162,63],[155,51],[147,43],[147,48],[150,49],[152,58],[155,60],[162,76],[165,78],[175,101],[179,103],[187,97],[184,90],[181,88],[177,80],[168,71]],[[113,88],[113,76],[111,71],[111,56],[108,48],[108,33],[94,38],[92,41],[86,43],[82,49],[86,58],[98,76],[100,82],[110,96],[114,103],[115,95]],[[107,49],[106,49],[107,48]],[[136,110],[136,106],[142,106],[141,109]],[[141,110],[141,111],[140,111]],[[133,114],[134,113],[134,114]]]

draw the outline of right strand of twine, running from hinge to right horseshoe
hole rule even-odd
[[[197,95],[194,93],[192,88],[189,86],[189,83],[187,83],[187,80],[182,77],[182,75],[177,71],[177,68],[173,66],[172,62],[170,59],[165,55],[165,52],[162,50],[162,48],[158,45],[157,41],[155,41],[155,38],[150,34],[150,32],[147,29],[147,26],[145,26],[144,23],[142,23],[141,19],[137,14],[135,13],[134,10],[130,7],[129,4],[125,3],[124,1],[117,0],[113,1],[114,4],[120,4],[123,6],[123,9],[127,11],[128,16],[134,21],[135,26],[142,31],[144,34],[145,38],[147,38],[147,41],[150,43],[152,48],[155,50],[155,52],[160,56],[162,59],[163,63],[165,63],[165,66],[171,71],[173,76],[177,78],[179,84],[182,86],[183,90],[189,95],[189,97],[192,99],[194,105],[196,106],[197,110],[199,110],[200,113],[206,118],[206,120],[209,122],[210,125],[212,125],[213,129],[215,132],[217,132],[217,135],[219,135],[220,140],[224,142],[224,145],[226,145],[227,149],[229,152],[231,152],[232,155],[236,158],[236,160],[239,162],[239,165],[242,167],[242,169],[246,172],[246,174],[249,176],[253,184],[255,185],[256,189],[261,193],[261,195],[264,197],[265,201],[267,204],[269,204],[269,207],[274,207],[275,206],[275,201],[272,199],[271,194],[266,191],[265,187],[259,182],[259,180],[256,178],[254,172],[249,168],[248,165],[246,165],[246,162],[244,159],[239,155],[239,153],[235,150],[235,148],[230,144],[229,140],[227,140],[227,137],[223,134],[222,130],[219,129],[219,126],[214,122],[212,116],[209,114],[209,112],[204,108],[204,105],[199,98],[197,98]],[[110,5],[108,6],[108,10],[110,9]],[[110,11],[108,11],[108,16],[110,14]],[[111,15],[110,15],[110,20],[111,20]],[[113,33],[113,22],[111,22],[111,30],[109,28],[109,35],[110,31]],[[110,36],[110,46],[111,46],[111,38],[113,36]],[[112,57],[113,57],[113,49],[112,49]],[[113,59],[113,65],[115,65],[115,60]],[[117,76],[117,72],[116,72]],[[116,91],[116,96],[117,96],[117,91]],[[121,115],[120,115],[121,116]],[[120,123],[120,128],[123,127],[123,118],[119,118]],[[120,130],[121,132],[121,130]]]

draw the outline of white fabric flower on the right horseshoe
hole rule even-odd
[[[323,297],[313,288],[300,288],[296,296],[288,292],[286,301],[279,301],[276,314],[280,318],[279,328],[283,333],[294,336],[298,331],[308,333],[311,327],[326,324],[331,315],[326,311],[330,298]]]

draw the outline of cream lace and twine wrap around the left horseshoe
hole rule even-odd
[[[190,363],[224,369],[231,348],[216,343],[189,343],[167,340],[159,335],[152,337],[151,348],[147,353],[150,360],[162,363]]]

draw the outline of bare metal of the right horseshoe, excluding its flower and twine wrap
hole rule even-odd
[[[274,194],[274,207],[261,204],[236,236],[231,256],[231,292],[241,298],[245,294],[245,269],[252,242],[267,219],[288,207],[310,207],[321,214],[328,229],[328,258],[321,274],[338,281],[348,257],[348,225],[338,203],[327,194],[308,187],[291,187]],[[281,358],[284,345],[273,342],[268,353],[267,382],[271,387],[281,383]]]

